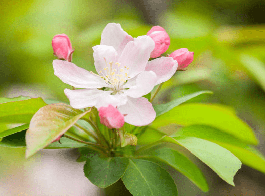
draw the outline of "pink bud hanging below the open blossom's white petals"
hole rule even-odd
[[[108,128],[120,128],[124,125],[124,116],[112,105],[100,107],[98,111],[100,123]]]

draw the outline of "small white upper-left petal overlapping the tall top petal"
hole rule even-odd
[[[104,71],[104,68],[109,67],[110,62],[116,63],[117,51],[113,48],[113,46],[96,45],[92,48],[94,50],[93,56],[97,73],[102,70]]]

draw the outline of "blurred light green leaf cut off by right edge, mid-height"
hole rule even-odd
[[[244,68],[248,70],[248,72],[260,84],[263,91],[265,91],[265,64],[257,58],[254,58],[247,54],[241,54],[240,60]]]

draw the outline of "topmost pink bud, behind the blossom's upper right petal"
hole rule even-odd
[[[152,27],[147,34],[155,42],[155,48],[151,52],[151,58],[159,57],[166,50],[168,50],[170,45],[170,39],[165,29],[160,26]]]

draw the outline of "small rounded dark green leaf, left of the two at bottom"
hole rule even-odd
[[[85,176],[94,185],[106,188],[117,182],[126,171],[126,157],[90,157],[84,165]]]

